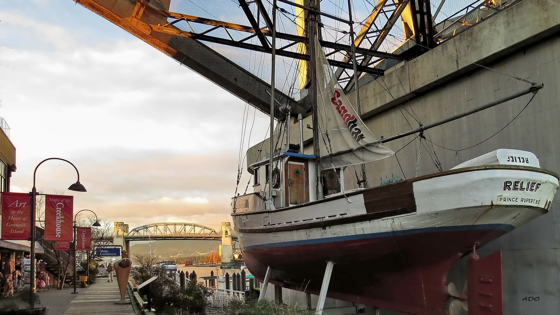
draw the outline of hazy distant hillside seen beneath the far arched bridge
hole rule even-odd
[[[193,256],[198,254],[209,254],[211,251],[217,251],[220,240],[155,240],[152,241],[152,254],[162,258],[170,258],[172,256]],[[130,245],[130,253],[148,254],[150,253],[150,244],[132,244]],[[201,255],[202,256],[202,255]]]

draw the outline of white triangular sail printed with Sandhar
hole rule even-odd
[[[385,159],[394,154],[366,127],[333,75],[332,67],[315,38],[319,142],[323,169]]]

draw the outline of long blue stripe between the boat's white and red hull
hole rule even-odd
[[[389,232],[379,232],[370,234],[356,234],[347,235],[342,237],[329,237],[329,238],[316,238],[316,239],[306,239],[306,240],[292,240],[290,242],[280,242],[280,243],[267,243],[259,245],[246,246],[243,249],[257,249],[257,248],[270,248],[270,247],[283,247],[283,246],[294,246],[294,245],[308,245],[308,244],[320,244],[320,243],[331,243],[340,242],[343,240],[356,240],[356,239],[366,239],[366,238],[379,238],[379,237],[395,237],[400,235],[411,235],[420,233],[438,233],[438,232],[449,232],[449,231],[466,231],[466,230],[505,230],[509,232],[514,229],[511,224],[477,224],[477,225],[451,225],[451,226],[433,226],[430,228],[421,229],[410,229],[410,230],[398,230]]]

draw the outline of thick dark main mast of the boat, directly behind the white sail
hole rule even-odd
[[[315,182],[317,199],[323,199],[323,180],[321,169],[321,155],[319,152],[319,113],[317,104],[317,54],[315,51],[315,36],[317,31],[317,0],[311,0],[309,7],[313,10],[307,11],[308,25],[307,35],[309,36],[309,72],[311,73],[311,104],[313,109],[313,154],[315,155]]]

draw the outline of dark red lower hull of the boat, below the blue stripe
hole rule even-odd
[[[511,225],[499,224],[430,228],[423,233],[399,233],[403,235],[268,244],[246,248],[243,255],[251,274],[261,281],[267,266],[272,266],[270,282],[277,286],[319,294],[330,260],[335,266],[329,298],[410,314],[446,315],[451,265],[472,251],[474,243],[486,244],[511,229]]]

